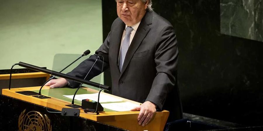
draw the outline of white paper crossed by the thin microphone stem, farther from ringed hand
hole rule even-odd
[[[67,98],[71,98],[73,99],[74,95],[63,95]],[[82,101],[83,99],[89,99],[89,100],[94,100],[94,101],[98,101],[98,93],[94,93],[94,94],[81,94],[81,95],[76,95],[75,96],[75,100],[78,101]],[[122,101],[121,99],[109,96],[109,95],[105,95],[103,93],[100,94],[100,103],[102,102],[119,102]]]

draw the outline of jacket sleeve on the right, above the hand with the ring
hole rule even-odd
[[[146,101],[162,109],[165,99],[177,84],[177,39],[171,25],[162,29],[155,43],[156,77]]]

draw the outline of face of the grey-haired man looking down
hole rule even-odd
[[[148,0],[143,3],[141,0],[117,0],[118,17],[127,25],[137,24],[146,13]]]

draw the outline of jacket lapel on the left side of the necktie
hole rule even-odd
[[[121,39],[122,39],[122,34],[125,28],[124,22],[120,20],[120,26],[112,30],[112,43],[114,44],[113,49],[112,49],[112,55],[113,55],[113,62],[114,62],[114,70],[116,70],[120,74],[120,69],[118,67],[118,58],[119,58],[119,53],[120,53],[120,44],[121,44]],[[117,53],[116,53],[117,52]]]

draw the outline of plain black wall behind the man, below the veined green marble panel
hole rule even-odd
[[[103,40],[117,18],[103,0]],[[262,122],[263,42],[220,33],[220,0],[153,0],[176,29],[183,111],[242,125]],[[110,84],[109,72],[105,84]]]

